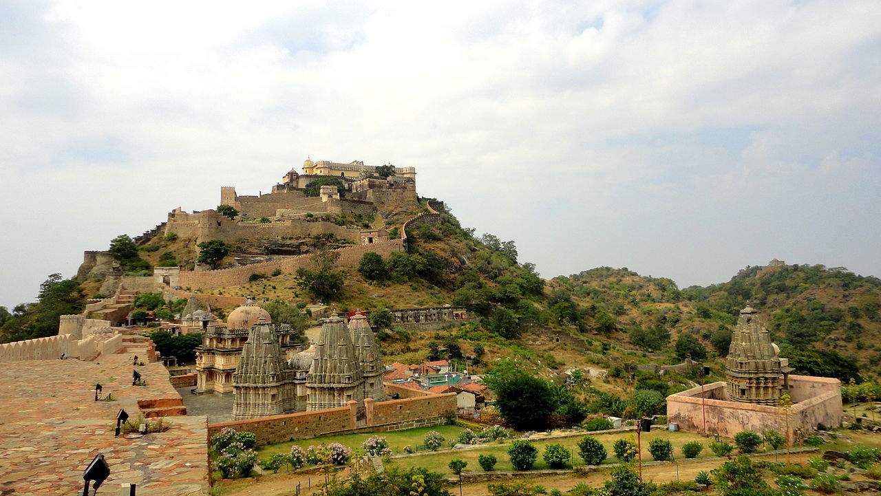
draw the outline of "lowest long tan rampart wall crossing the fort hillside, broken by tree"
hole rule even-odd
[[[335,250],[339,255],[339,265],[357,265],[361,255],[367,252],[375,252],[380,255],[390,255],[403,251],[403,243],[400,240],[382,241],[370,245],[356,245]],[[301,267],[307,268],[312,264],[312,254],[286,256],[263,263],[252,263],[233,267],[232,269],[181,271],[181,286],[191,290],[212,287],[225,287],[231,285],[248,284],[251,274],[270,274],[273,270],[281,270],[283,273],[295,273]]]

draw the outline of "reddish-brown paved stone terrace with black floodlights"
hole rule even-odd
[[[134,368],[131,354],[0,364],[0,494],[76,494],[98,453],[110,465],[99,493],[116,494],[123,483],[136,483],[145,496],[207,493],[204,417],[167,417],[172,427],[165,433],[114,437],[120,408],[137,418],[138,400],[181,399],[161,364],[137,367],[146,387],[131,385]],[[96,403],[95,382],[117,401]]]

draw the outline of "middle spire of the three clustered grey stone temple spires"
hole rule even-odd
[[[315,358],[306,379],[306,410],[323,410],[364,400],[364,377],[343,319],[332,316],[322,323]]]

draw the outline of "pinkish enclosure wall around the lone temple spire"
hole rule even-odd
[[[821,389],[816,396],[793,405],[790,429],[802,426],[813,431],[818,426],[841,425],[840,389],[833,390],[829,378],[790,375],[789,380],[794,390],[811,389],[811,385],[805,382],[814,382]],[[838,382],[836,379],[831,381]],[[801,384],[796,386],[799,382]],[[678,424],[681,430],[692,433],[703,433],[706,421],[707,433],[729,438],[744,430],[759,433],[767,429],[786,430],[786,418],[780,408],[729,401],[724,399],[727,397],[725,387],[726,383],[720,381],[705,385],[703,397],[700,387],[667,396],[667,419]]]

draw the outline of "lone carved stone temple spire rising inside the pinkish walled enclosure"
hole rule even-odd
[[[783,389],[777,346],[751,307],[740,311],[725,366],[730,400],[776,405]]]

